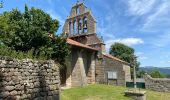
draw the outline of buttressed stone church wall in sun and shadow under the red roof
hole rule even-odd
[[[71,56],[67,59],[67,87],[95,83],[95,56],[95,51],[72,47]]]

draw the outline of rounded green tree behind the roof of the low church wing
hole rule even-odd
[[[131,66],[131,75],[133,75],[133,66],[136,66],[136,71],[138,71],[140,63],[137,61],[137,57],[134,54],[133,48],[122,43],[114,43],[111,45],[109,53],[121,60],[128,62]]]

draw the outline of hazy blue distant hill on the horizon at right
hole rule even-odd
[[[159,70],[164,75],[170,75],[170,67],[145,66],[145,67],[140,67],[139,70],[144,70],[146,72],[151,72],[153,70]]]

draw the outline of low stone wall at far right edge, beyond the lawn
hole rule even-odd
[[[159,92],[170,92],[170,79],[167,78],[152,78],[145,74],[145,87]]]

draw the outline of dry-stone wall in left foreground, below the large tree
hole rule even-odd
[[[0,100],[59,100],[59,92],[54,61],[0,57]]]

